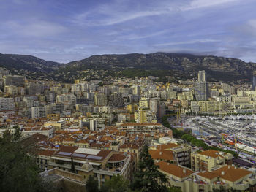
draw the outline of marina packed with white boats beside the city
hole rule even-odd
[[[186,116],[181,124],[207,145],[236,151],[239,158],[256,163],[256,115]]]

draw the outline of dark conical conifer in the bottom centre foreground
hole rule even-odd
[[[166,187],[168,184],[167,178],[165,174],[159,172],[158,168],[159,166],[154,164],[154,160],[148,153],[148,147],[143,147],[143,152],[138,162],[138,171],[135,172],[135,178],[132,182],[132,189],[143,192],[168,191]]]

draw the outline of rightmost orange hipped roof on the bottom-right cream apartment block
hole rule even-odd
[[[235,182],[248,174],[252,174],[252,172],[246,169],[239,169],[234,166],[223,166],[222,168],[214,170],[213,173],[218,174],[223,180],[229,180],[231,182]]]

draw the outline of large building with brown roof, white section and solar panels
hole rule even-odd
[[[99,187],[116,174],[127,180],[131,179],[131,156],[110,150],[63,146],[50,157],[48,168],[71,172],[72,164],[76,174],[84,178],[89,175],[97,178]]]

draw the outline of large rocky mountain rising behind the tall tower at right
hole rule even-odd
[[[246,63],[236,58],[224,58],[211,55],[191,55],[183,53],[150,53],[93,55],[89,58],[72,61],[57,71],[61,74],[71,73],[78,77],[86,69],[148,72],[146,74],[170,75],[183,79],[196,77],[199,70],[206,70],[209,80],[250,79],[256,68],[255,63]],[[127,72],[128,71],[128,72]],[[138,74],[138,73],[137,73]],[[126,75],[127,76],[127,75]],[[140,75],[139,75],[140,76]]]

